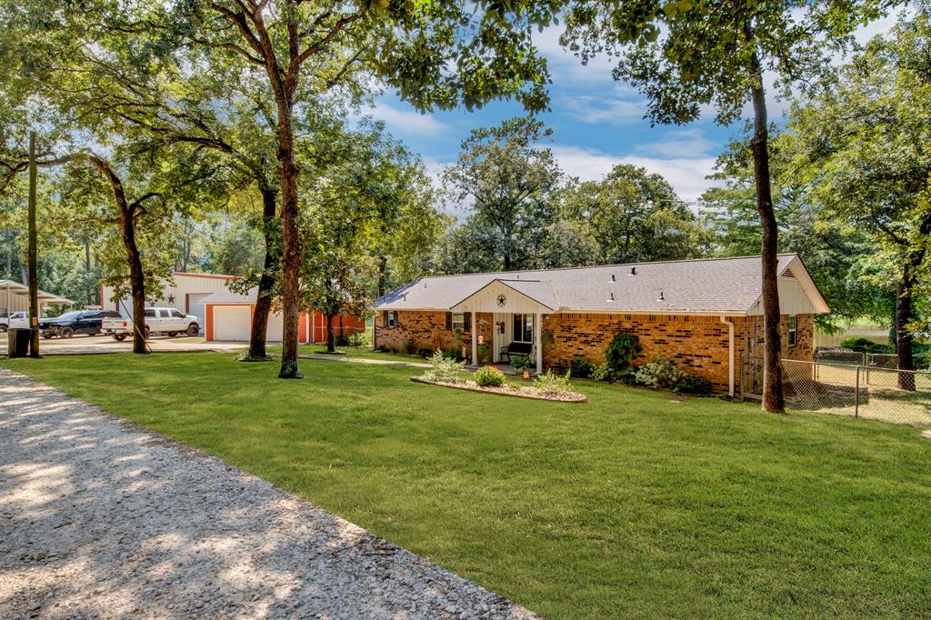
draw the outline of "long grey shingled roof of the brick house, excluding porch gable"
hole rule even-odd
[[[799,280],[818,313],[830,308],[797,254],[780,254],[778,273]],[[749,314],[762,292],[759,256],[623,263],[596,267],[430,276],[392,290],[376,310],[450,310],[500,282],[546,312]]]

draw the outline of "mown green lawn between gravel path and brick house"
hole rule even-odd
[[[553,618],[926,616],[931,441],[578,382],[585,405],[411,369],[224,354],[2,363],[240,465]]]

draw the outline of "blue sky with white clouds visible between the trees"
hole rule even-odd
[[[891,19],[877,21],[857,38],[865,41],[884,32]],[[722,128],[713,114],[687,126],[650,127],[643,120],[644,99],[634,88],[615,82],[612,63],[596,59],[583,66],[558,42],[560,30],[551,28],[536,37],[536,45],[549,63],[551,112],[541,115],[553,135],[547,144],[568,174],[582,180],[603,177],[615,164],[629,163],[662,174],[681,198],[695,200],[711,182],[714,160],[743,123]],[[770,116],[778,120],[786,105],[770,102]],[[496,101],[468,113],[465,110],[421,115],[390,92],[375,102],[370,114],[414,151],[423,155],[431,172],[452,162],[459,144],[472,128],[495,125],[523,115],[519,104]]]

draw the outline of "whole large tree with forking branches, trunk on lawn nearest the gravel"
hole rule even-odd
[[[302,376],[297,360],[300,303],[301,164],[294,116],[304,104],[359,74],[377,77],[421,109],[467,108],[516,96],[546,104],[546,65],[531,26],[548,23],[548,5],[421,3],[391,0],[201,0],[177,3],[186,40],[236,54],[244,72],[267,80],[277,129],[283,259],[282,378]],[[483,10],[487,9],[487,10]]]

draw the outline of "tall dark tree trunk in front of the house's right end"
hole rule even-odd
[[[762,409],[774,413],[786,411],[782,391],[782,367],[779,360],[779,286],[778,286],[778,224],[773,209],[773,190],[769,173],[769,132],[766,118],[766,95],[762,88],[762,71],[756,52],[751,59],[755,86],[753,100],[753,181],[756,184],[757,212],[762,224],[760,254],[762,262],[763,365]]]

